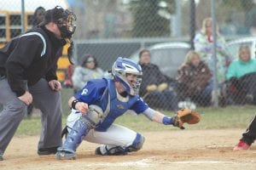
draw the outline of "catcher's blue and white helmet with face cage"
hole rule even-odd
[[[113,75],[113,79],[117,82],[121,82],[123,88],[128,94],[137,95],[142,83],[142,67],[138,65],[131,59],[125,59],[119,57],[113,63],[111,73]],[[136,82],[130,82],[126,78],[126,74],[137,75]]]

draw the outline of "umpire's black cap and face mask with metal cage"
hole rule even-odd
[[[73,12],[56,6],[45,12],[44,25],[49,22],[54,22],[60,29],[62,38],[71,38],[76,29],[76,25],[74,24],[75,20],[77,20],[77,18]]]

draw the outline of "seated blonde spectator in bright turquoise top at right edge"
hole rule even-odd
[[[234,104],[256,104],[256,60],[251,59],[250,48],[241,46],[238,59],[233,60],[226,77],[227,93]]]

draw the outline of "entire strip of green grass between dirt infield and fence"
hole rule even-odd
[[[226,108],[198,108],[196,111],[201,113],[201,122],[196,125],[186,125],[187,129],[223,129],[223,128],[243,128],[255,115],[256,106],[230,106]],[[173,116],[172,112],[165,112],[168,116]],[[67,120],[67,114],[63,114],[63,127]],[[177,130],[175,127],[164,126],[160,123],[150,122],[145,116],[124,115],[120,116],[115,123],[129,127],[135,131],[163,131]],[[32,116],[25,118],[18,127],[15,135],[39,135],[40,117]]]

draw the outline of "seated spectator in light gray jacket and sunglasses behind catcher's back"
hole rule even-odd
[[[78,65],[74,68],[72,82],[74,91],[84,88],[84,84],[91,79],[104,77],[105,72],[98,67],[95,56],[85,55],[81,57]]]

